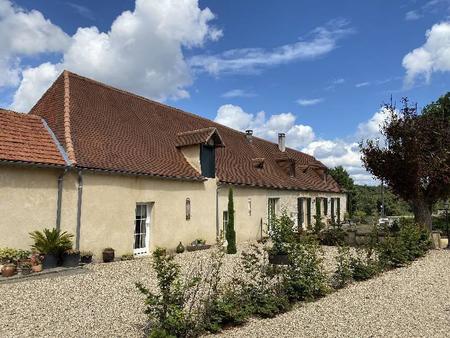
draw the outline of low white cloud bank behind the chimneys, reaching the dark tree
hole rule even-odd
[[[286,144],[316,157],[332,168],[342,165],[358,184],[374,184],[376,181],[364,169],[361,162],[359,142],[362,139],[381,138],[379,132],[388,112],[381,109],[368,120],[358,125],[347,139],[323,139],[316,137],[311,126],[299,124],[292,113],[266,116],[264,111],[247,113],[236,105],[223,105],[217,111],[215,121],[244,131],[253,129],[256,136],[277,142],[279,132],[286,133]]]

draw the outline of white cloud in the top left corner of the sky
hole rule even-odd
[[[0,0],[0,88],[20,82],[24,56],[60,52],[69,37],[38,11],[25,11]]]

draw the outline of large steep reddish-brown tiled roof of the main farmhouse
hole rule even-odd
[[[32,108],[42,116],[81,168],[184,179],[202,179],[177,146],[204,142],[216,129],[224,147],[216,148],[216,175],[225,183],[340,191],[311,167],[324,167],[293,149],[222,126],[200,116],[112,88],[65,71]],[[254,159],[264,159],[262,168]],[[280,159],[295,163],[291,177]]]

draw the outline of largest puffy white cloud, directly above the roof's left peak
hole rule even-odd
[[[135,9],[120,14],[108,32],[94,26],[78,28],[61,61],[52,66],[57,73],[69,69],[158,100],[184,98],[192,76],[183,48],[219,39],[222,32],[211,26],[213,19],[208,8],[199,8],[198,0],[136,0]],[[12,107],[31,107],[46,87],[32,83],[46,75],[48,67],[41,66],[23,72]],[[48,78],[47,86],[52,80]],[[25,90],[27,84],[32,92]]]

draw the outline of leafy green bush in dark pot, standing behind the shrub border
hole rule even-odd
[[[289,247],[294,241],[294,222],[283,211],[281,217],[274,217],[270,224],[269,237],[272,240],[272,247],[268,249],[269,263],[276,265],[289,264]]]

